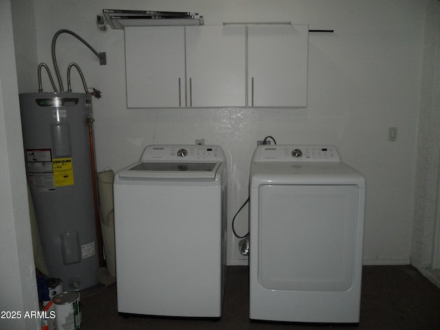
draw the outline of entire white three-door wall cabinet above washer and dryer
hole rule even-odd
[[[125,28],[129,108],[306,107],[308,25]]]

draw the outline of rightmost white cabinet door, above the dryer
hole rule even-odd
[[[308,25],[248,26],[248,107],[306,107]]]

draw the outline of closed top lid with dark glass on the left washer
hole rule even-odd
[[[120,170],[124,179],[214,181],[221,162],[136,162]]]

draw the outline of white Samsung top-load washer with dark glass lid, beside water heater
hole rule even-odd
[[[120,313],[221,316],[226,167],[220,146],[151,145],[115,174]]]

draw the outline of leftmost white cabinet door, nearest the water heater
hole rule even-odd
[[[183,26],[125,28],[127,107],[185,107]]]

